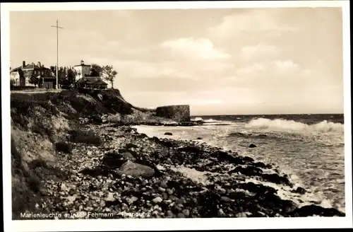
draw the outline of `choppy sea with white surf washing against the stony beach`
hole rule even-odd
[[[217,115],[191,120],[205,124],[136,128],[151,137],[202,141],[273,164],[308,191],[301,199],[304,203],[345,211],[343,115]],[[256,148],[249,148],[250,144]]]

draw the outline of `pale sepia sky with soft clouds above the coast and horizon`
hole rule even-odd
[[[143,108],[191,115],[343,113],[341,8],[10,13],[11,67],[113,65]]]

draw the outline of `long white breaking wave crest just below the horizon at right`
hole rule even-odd
[[[251,120],[248,124],[246,124],[246,127],[251,129],[273,129],[300,132],[344,132],[343,124],[328,122],[327,120],[309,125],[303,122],[296,122],[294,120],[269,120],[266,118],[258,118]]]

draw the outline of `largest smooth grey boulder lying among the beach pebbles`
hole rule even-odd
[[[126,161],[121,165],[119,170],[116,170],[116,173],[119,175],[131,175],[133,177],[151,177],[152,175],[155,175],[155,170],[148,166],[144,166],[139,163],[133,163],[131,161]]]

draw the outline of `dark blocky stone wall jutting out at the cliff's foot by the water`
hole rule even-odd
[[[167,105],[156,109],[157,117],[168,118],[177,122],[190,121],[189,105]]]

